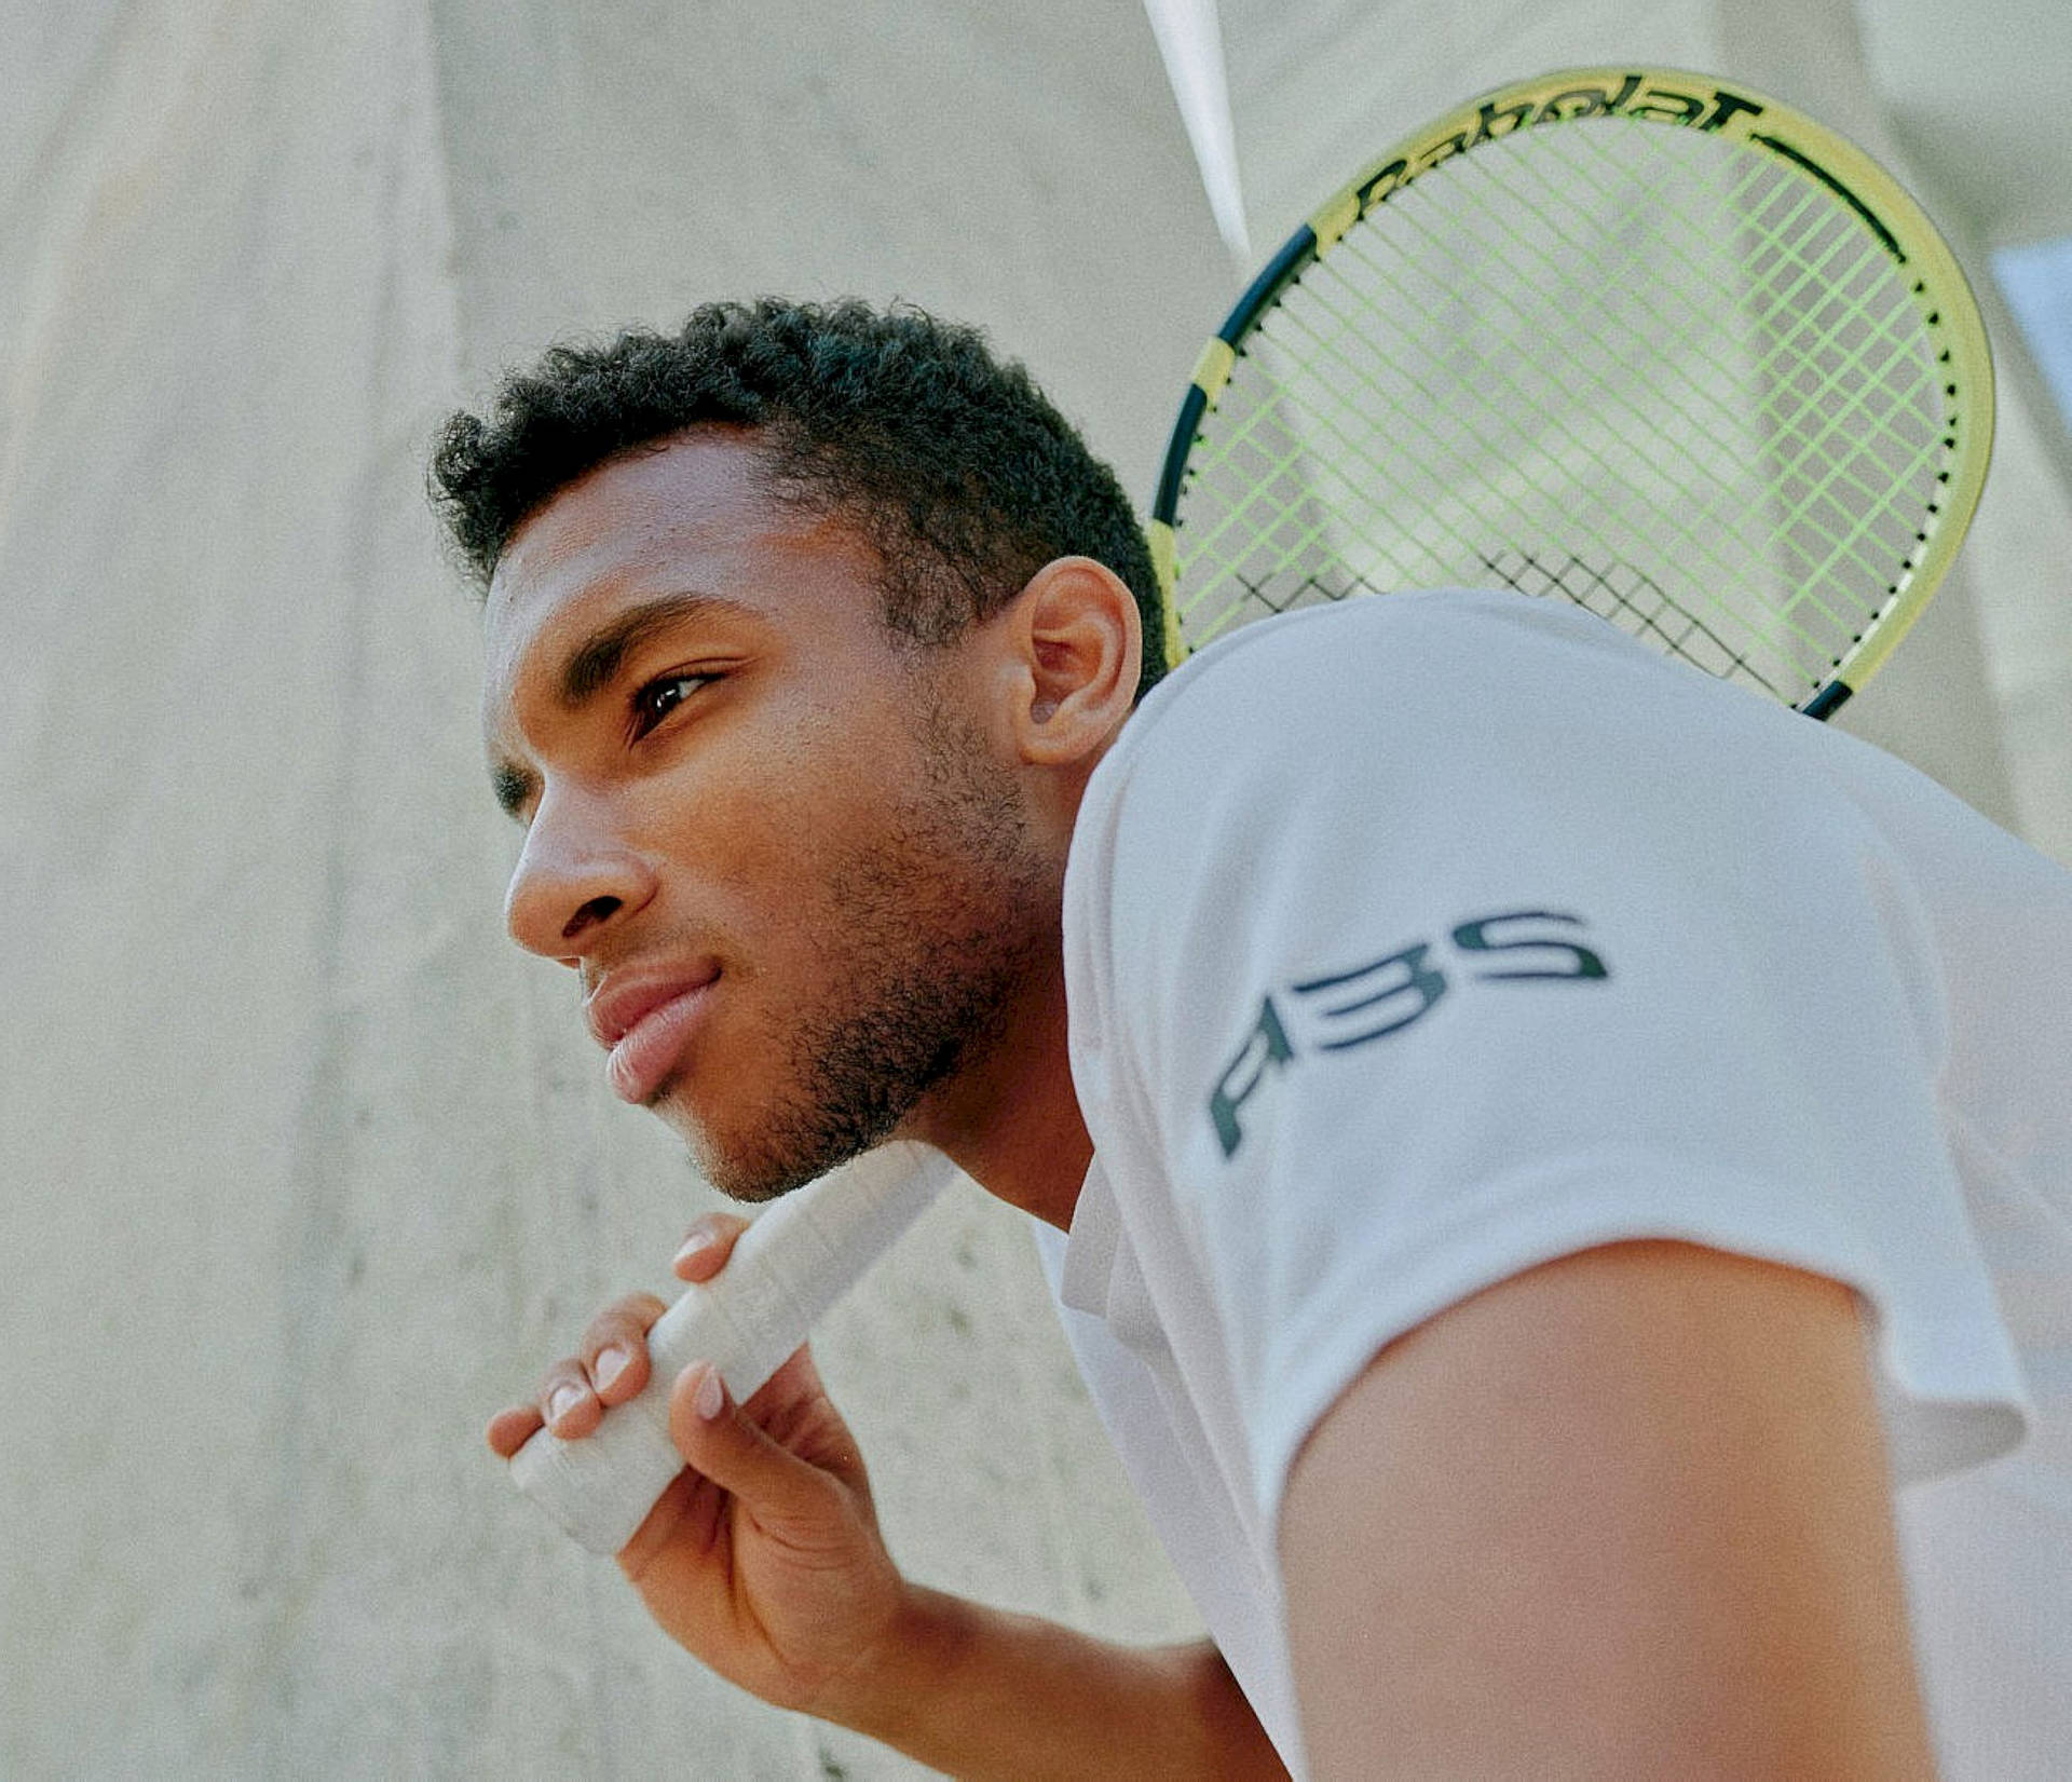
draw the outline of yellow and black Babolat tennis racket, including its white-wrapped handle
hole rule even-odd
[[[1948,572],[1991,433],[1970,288],[1867,155],[1701,75],[1548,75],[1376,160],[1208,342],[1152,506],[1167,655],[1513,586],[1828,717]],[[675,1374],[746,1399],[953,1173],[889,1146],[781,1200],[655,1324],[653,1384],[518,1484],[622,1548],[682,1465]]]

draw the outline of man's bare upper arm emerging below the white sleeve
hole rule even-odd
[[[1318,1424],[1280,1554],[1320,1782],[1933,1772],[1834,1281],[1616,1243],[1490,1287]]]

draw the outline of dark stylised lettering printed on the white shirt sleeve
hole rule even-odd
[[[1413,941],[1380,959],[1283,984],[1216,1077],[1208,1117],[1225,1156],[1245,1142],[1241,1113],[1274,1071],[1312,1053],[1345,1053],[1413,1028],[1461,982],[1595,984],[1604,955],[1573,935],[1587,924],[1558,910],[1506,910],[1450,928],[1444,943]]]

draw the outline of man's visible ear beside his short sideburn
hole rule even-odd
[[[1009,723],[1032,767],[1092,767],[1138,696],[1138,601],[1092,557],[1044,564],[1003,613]]]

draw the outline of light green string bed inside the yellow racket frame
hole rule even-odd
[[[1765,151],[1608,122],[1440,164],[1283,292],[1189,460],[1191,644],[1496,576],[1788,696],[1904,582],[1948,450],[1904,280]]]

